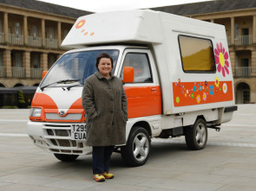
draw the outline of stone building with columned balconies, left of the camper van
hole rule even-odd
[[[38,86],[43,70],[67,51],[61,43],[77,17],[89,14],[35,0],[0,0],[0,108],[8,101],[5,90]]]

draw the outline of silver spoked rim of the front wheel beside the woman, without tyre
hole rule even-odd
[[[135,137],[133,150],[137,161],[143,161],[148,156],[149,141],[144,133],[139,133]]]

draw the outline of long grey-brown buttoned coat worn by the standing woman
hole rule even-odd
[[[99,72],[91,75],[83,86],[82,107],[87,114],[87,145],[126,143],[128,105],[120,79],[111,74],[107,80]]]

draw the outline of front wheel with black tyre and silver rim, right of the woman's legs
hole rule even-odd
[[[130,132],[126,146],[121,147],[122,159],[131,167],[141,166],[148,161],[151,140],[142,127],[135,127]]]

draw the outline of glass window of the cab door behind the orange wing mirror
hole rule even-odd
[[[140,83],[153,82],[152,74],[149,67],[148,55],[139,53],[128,53],[123,61],[121,69],[121,79],[124,67],[134,67],[135,81]]]

